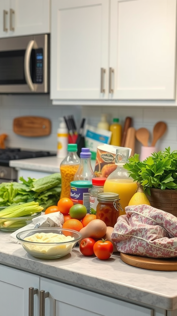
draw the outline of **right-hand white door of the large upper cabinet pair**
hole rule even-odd
[[[111,0],[112,99],[175,99],[176,0]]]

